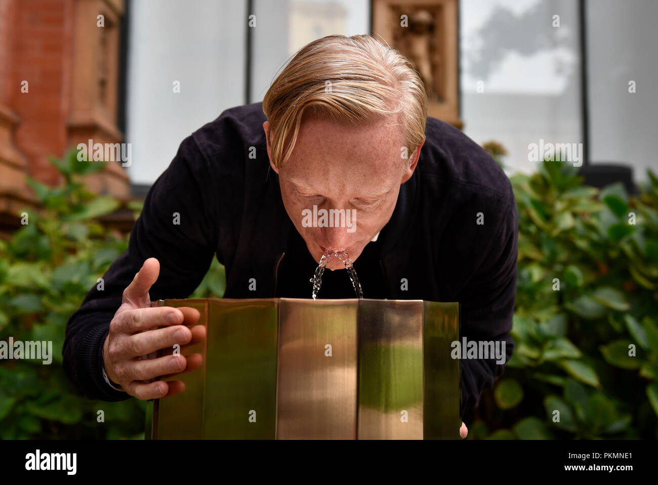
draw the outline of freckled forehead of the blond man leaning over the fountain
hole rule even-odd
[[[303,119],[284,171],[316,188],[342,185],[372,189],[401,175],[402,125],[397,117],[342,125],[322,117]],[[315,184],[315,185],[314,185]]]

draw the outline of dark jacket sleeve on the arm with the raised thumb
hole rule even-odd
[[[103,345],[124,289],[148,258],[160,262],[151,300],[187,298],[207,273],[218,239],[217,196],[209,161],[191,136],[149,189],[130,233],[128,249],[94,285],[66,324],[63,366],[91,399],[121,401],[130,395],[103,377]]]

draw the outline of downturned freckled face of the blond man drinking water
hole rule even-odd
[[[265,133],[268,124],[263,123]],[[354,262],[388,223],[400,185],[411,178],[420,154],[420,147],[409,154],[412,163],[407,167],[403,145],[401,126],[394,119],[358,127],[319,117],[303,119],[291,157],[281,169],[272,168],[279,175],[286,212],[316,261],[325,250],[345,248]],[[267,151],[271,163],[269,140]],[[345,216],[336,217],[332,209],[342,209]],[[330,225],[330,219],[334,227],[319,227]],[[345,266],[332,258],[327,268]]]

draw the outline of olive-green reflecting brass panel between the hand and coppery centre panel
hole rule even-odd
[[[203,438],[276,438],[276,301],[209,301]]]

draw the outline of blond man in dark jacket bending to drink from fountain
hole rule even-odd
[[[318,223],[320,210],[345,217]],[[322,38],[263,103],[228,109],[182,142],[105,290],[71,316],[64,366],[89,397],[175,395],[182,382],[151,380],[194,370],[201,356],[139,357],[205,330],[188,328],[197,310],[151,301],[188,297],[215,254],[224,297],[309,298],[322,254],[338,250],[365,298],[460,302],[461,339],[504,342],[509,358],[517,226],[509,180],[465,134],[427,117],[405,57],[372,36]],[[354,298],[343,262],[327,268],[318,297]],[[501,363],[460,361],[463,407],[478,404]]]

